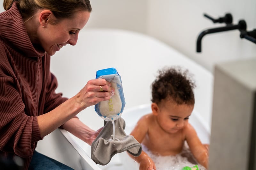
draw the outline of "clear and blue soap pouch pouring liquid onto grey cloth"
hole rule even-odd
[[[116,68],[112,67],[98,70],[96,72],[96,79],[98,78],[109,81],[111,87],[115,89],[115,95],[107,101],[97,103],[95,111],[106,121],[116,120],[121,117],[125,106],[121,76],[116,71]]]

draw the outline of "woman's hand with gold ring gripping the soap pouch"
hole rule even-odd
[[[101,101],[109,100],[115,94],[111,83],[105,79],[89,80],[82,90],[75,96],[82,109],[95,105]]]

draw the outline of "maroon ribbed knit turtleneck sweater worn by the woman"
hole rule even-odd
[[[43,139],[37,116],[67,100],[56,88],[50,56],[36,51],[14,2],[0,13],[0,157],[18,155],[28,169]]]

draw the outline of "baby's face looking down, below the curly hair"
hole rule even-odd
[[[194,105],[177,104],[173,101],[165,101],[159,106],[157,121],[164,131],[176,133],[188,124],[188,118],[194,109]]]

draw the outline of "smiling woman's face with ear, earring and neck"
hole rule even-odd
[[[87,23],[90,12],[77,11],[71,18],[62,19],[54,24],[52,23],[57,21],[57,18],[52,11],[40,10],[35,17],[38,18],[36,21],[38,27],[29,28],[30,25],[35,25],[35,19],[30,19],[25,23],[26,28],[30,29],[29,37],[33,39],[33,44],[39,44],[46,53],[53,55],[67,44],[76,45],[78,33]]]

